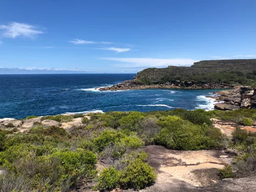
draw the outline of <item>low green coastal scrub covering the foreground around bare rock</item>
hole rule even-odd
[[[184,151],[229,147],[238,154],[236,163],[221,169],[221,178],[256,173],[256,134],[237,129],[228,139],[211,121],[247,125],[256,120],[256,110],[108,112],[41,120],[74,118],[82,123],[69,130],[41,123],[27,134],[0,130],[0,191],[69,191],[92,181],[94,190],[142,189],[157,179],[144,151],[154,144]]]

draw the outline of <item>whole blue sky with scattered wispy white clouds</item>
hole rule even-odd
[[[0,68],[134,73],[256,57],[254,0],[0,1]]]

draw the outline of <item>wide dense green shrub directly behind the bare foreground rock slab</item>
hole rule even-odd
[[[157,124],[162,130],[156,136],[156,143],[173,150],[218,149],[223,146],[219,130],[206,124],[197,125],[178,116],[161,117]]]

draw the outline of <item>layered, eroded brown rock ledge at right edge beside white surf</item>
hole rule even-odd
[[[217,110],[256,109],[256,89],[241,86],[217,93],[216,99],[220,101],[215,105]]]

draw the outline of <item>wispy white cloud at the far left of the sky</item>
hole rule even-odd
[[[44,32],[28,24],[12,22],[9,25],[0,25],[0,34],[7,38],[16,38],[18,36],[35,38],[37,34],[41,33]]]

